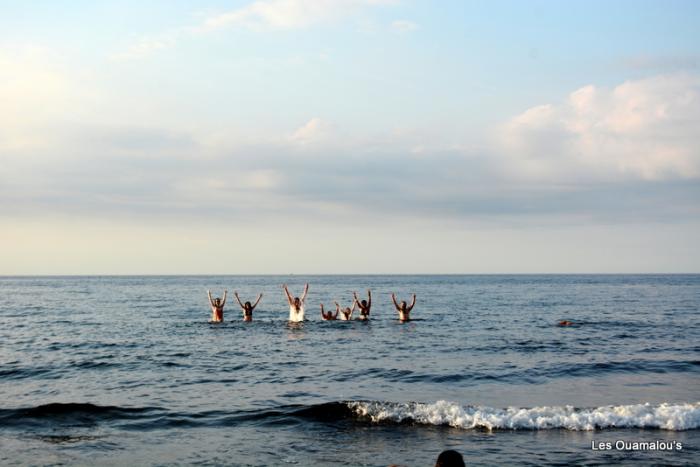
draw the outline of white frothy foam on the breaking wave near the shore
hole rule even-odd
[[[413,421],[487,430],[596,430],[604,428],[658,428],[691,430],[700,427],[700,402],[635,404],[579,409],[572,406],[495,409],[437,401],[429,404],[348,402],[357,415],[374,423]]]

